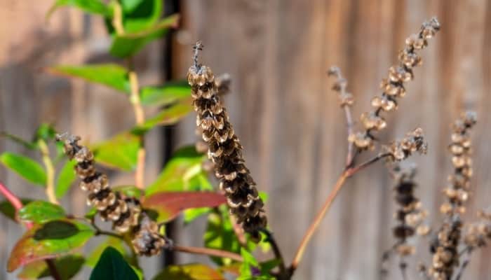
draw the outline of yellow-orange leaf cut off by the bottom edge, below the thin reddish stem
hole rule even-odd
[[[157,274],[153,280],[224,280],[220,272],[200,263],[170,265]]]

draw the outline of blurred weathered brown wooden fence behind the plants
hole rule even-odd
[[[60,131],[99,141],[133,124],[130,105],[118,93],[43,71],[53,64],[114,60],[107,54],[110,41],[100,18],[62,8],[46,21],[53,0],[0,3],[0,131],[29,138],[40,123],[51,122]],[[231,122],[258,188],[269,193],[269,223],[288,261],[342,171],[346,153],[344,115],[326,70],[341,67],[356,97],[358,120],[380,91],[379,81],[389,66],[396,64],[405,38],[433,15],[442,28],[421,52],[423,65],[415,69],[407,96],[379,137],[389,142],[418,126],[426,132],[429,153],[410,160],[419,166],[417,195],[430,212],[431,225],[438,225],[441,190],[451,172],[450,123],[462,111],[477,111],[469,219],[490,206],[490,1],[166,0],[165,7],[166,14],[182,15],[180,29],[137,57],[141,83],[184,78],[197,39],[205,45],[203,63],[215,73],[231,74],[226,97]],[[149,180],[177,146],[196,140],[194,118],[191,114],[147,138]],[[29,153],[3,139],[0,151]],[[132,180],[132,174],[111,175],[115,184]],[[41,188],[3,167],[0,179],[20,197],[43,197]],[[382,164],[349,179],[308,246],[295,279],[379,279],[382,253],[394,244],[392,187]],[[69,197],[63,204],[82,214],[86,206],[81,190],[72,188]],[[0,229],[0,279],[15,279],[4,267],[22,228],[0,216]],[[204,221],[184,228],[178,220],[172,238],[202,246],[203,230]],[[430,263],[427,243],[417,243],[410,270],[419,260]],[[474,253],[465,279],[489,279],[490,257],[491,248]],[[193,255],[170,258],[206,260]],[[145,260],[147,273],[154,274],[161,262]],[[389,279],[399,279],[396,265],[396,260],[391,262]],[[87,273],[78,279],[87,279]]]

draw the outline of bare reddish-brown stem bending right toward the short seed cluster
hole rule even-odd
[[[302,260],[302,256],[304,255],[304,251],[305,248],[307,247],[307,244],[309,244],[310,239],[314,235],[314,232],[316,232],[318,226],[321,224],[321,221],[323,220],[325,214],[328,213],[328,210],[330,209],[332,202],[337,197],[339,190],[341,190],[342,186],[344,186],[344,182],[346,181],[346,179],[353,176],[354,174],[356,174],[356,172],[359,172],[361,169],[364,169],[365,167],[368,167],[372,163],[375,163],[378,160],[385,158],[386,156],[389,155],[390,155],[389,153],[380,153],[375,158],[367,160],[366,162],[363,162],[356,167],[345,169],[344,172],[339,176],[339,178],[335,183],[334,188],[332,188],[330,194],[328,195],[328,198],[325,200],[323,207],[315,216],[314,221],[309,226],[307,232],[305,232],[305,235],[302,238],[302,241],[300,242],[300,246],[298,246],[297,248],[297,253],[295,253],[295,257],[293,258],[292,264],[290,265],[291,273],[295,272],[295,269],[297,269],[298,264]]]

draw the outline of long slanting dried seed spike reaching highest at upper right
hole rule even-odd
[[[362,132],[355,132],[349,136],[349,141],[360,150],[372,149],[374,139],[372,132],[383,130],[386,120],[381,116],[382,111],[390,112],[397,109],[397,99],[404,97],[404,83],[412,80],[412,69],[422,64],[422,58],[417,55],[417,50],[422,50],[428,45],[428,40],[440,29],[440,23],[436,18],[424,22],[418,34],[412,34],[405,40],[405,48],[399,52],[398,66],[391,66],[388,78],[384,78],[380,87],[382,95],[372,99],[373,111],[361,115],[361,123],[365,128]]]

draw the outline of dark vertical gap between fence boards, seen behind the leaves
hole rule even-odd
[[[173,13],[180,12],[179,0],[166,0],[164,1],[164,16],[172,15]],[[169,34],[165,38],[165,43],[163,44],[163,55],[162,55],[162,80],[171,80],[173,77],[173,43],[172,38],[174,35],[174,31],[170,31]],[[175,148],[175,125],[165,126],[162,128],[162,166],[166,165],[168,160],[170,159],[170,155]],[[175,223],[170,222],[166,224],[166,236],[170,239],[175,237]],[[175,264],[175,254],[173,251],[165,251],[163,253],[163,266],[166,267],[168,265]]]

